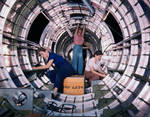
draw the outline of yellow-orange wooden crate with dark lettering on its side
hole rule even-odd
[[[71,76],[64,79],[64,94],[83,95],[84,76]]]

